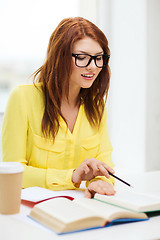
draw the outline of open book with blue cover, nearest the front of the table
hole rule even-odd
[[[54,198],[36,204],[29,216],[57,233],[66,233],[112,225],[113,222],[131,222],[148,219],[137,213],[95,199]]]

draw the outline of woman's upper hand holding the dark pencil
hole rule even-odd
[[[114,173],[114,170],[104,162],[95,158],[85,159],[72,174],[72,182],[80,183],[81,181],[89,181],[96,176],[105,176],[109,178],[109,172]]]

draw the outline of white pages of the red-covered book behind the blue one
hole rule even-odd
[[[41,187],[29,187],[22,189],[21,193],[22,200],[35,203],[58,196],[70,196],[72,198],[84,197],[84,190],[52,191]]]

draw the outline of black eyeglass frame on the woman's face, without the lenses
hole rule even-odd
[[[86,66],[78,66],[78,65],[77,65],[76,59],[77,59],[77,57],[80,56],[80,55],[87,55],[87,56],[90,57],[90,59],[89,59],[89,61],[88,61],[88,63],[87,63]],[[99,56],[102,56],[102,57],[107,56],[107,57],[108,57],[106,63],[105,63],[102,67],[98,67],[98,66],[97,66],[97,63],[96,63],[96,58],[99,57]],[[76,65],[77,67],[85,68],[85,67],[87,67],[87,66],[91,63],[92,59],[94,59],[94,63],[95,63],[95,65],[96,65],[96,67],[98,67],[98,68],[104,68],[104,67],[108,64],[110,55],[107,54],[107,53],[104,53],[104,54],[98,54],[98,55],[92,56],[92,55],[90,55],[90,54],[82,54],[82,53],[75,54],[75,53],[72,53],[72,57],[75,58],[75,65]]]

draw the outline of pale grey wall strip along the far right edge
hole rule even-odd
[[[160,1],[147,1],[146,169],[160,169]]]

